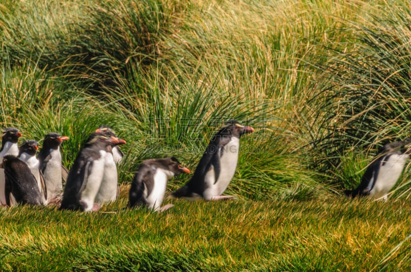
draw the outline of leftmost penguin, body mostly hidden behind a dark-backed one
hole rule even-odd
[[[3,161],[3,158],[7,155],[18,155],[18,138],[22,134],[15,128],[4,128],[2,129],[2,148],[0,149],[0,163]],[[5,176],[4,170],[0,169],[0,205],[6,204],[5,196]]]

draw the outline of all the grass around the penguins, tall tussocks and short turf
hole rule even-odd
[[[127,141],[123,186],[146,158],[194,170],[225,120],[255,132],[240,200],[122,211],[123,187],[97,214],[2,209],[1,268],[409,270],[409,165],[388,202],[341,192],[409,136],[410,18],[404,0],[4,0],[0,125],[69,136],[67,167],[101,124]]]

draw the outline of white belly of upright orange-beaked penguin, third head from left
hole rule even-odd
[[[50,156],[51,158],[47,162],[46,170],[43,173],[48,200],[56,198],[63,190],[60,149],[52,150]]]

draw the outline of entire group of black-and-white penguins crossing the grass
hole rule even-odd
[[[240,137],[254,129],[229,120],[213,136],[190,180],[172,193],[188,200],[227,200],[223,196],[232,180],[240,148]],[[22,133],[15,128],[2,130],[0,149],[0,204],[59,205],[60,210],[92,212],[115,201],[120,192],[117,168],[124,157],[120,145],[126,144],[113,129],[102,125],[83,144],[70,170],[62,164],[60,147],[67,136],[48,133],[39,142],[25,140],[18,147]],[[384,145],[370,163],[355,190],[346,190],[349,197],[387,198],[397,183],[406,161],[411,156],[411,138]],[[162,206],[167,180],[189,174],[175,157],[146,159],[134,175],[126,208],[144,206],[153,211],[165,211]],[[64,185],[65,183],[65,185]]]

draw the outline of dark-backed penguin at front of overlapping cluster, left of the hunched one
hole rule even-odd
[[[94,202],[103,180],[107,146],[118,142],[99,133],[89,136],[68,174],[61,210],[96,210]]]

